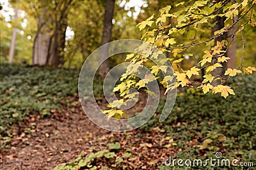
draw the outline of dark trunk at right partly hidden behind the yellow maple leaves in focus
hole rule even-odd
[[[217,16],[213,19],[213,22],[216,22],[216,25],[214,25],[214,27],[212,28],[212,36],[214,36],[215,31],[218,31],[225,26],[224,21],[225,21],[225,17],[220,17],[220,16]],[[217,41],[221,42],[225,39],[227,39],[227,34],[224,32],[221,36],[214,39],[214,46],[217,44]],[[222,49],[222,50],[225,50],[225,49]],[[225,53],[224,55],[227,55],[227,53]],[[216,63],[217,58],[218,56],[215,55],[212,62]],[[214,80],[212,81],[213,86],[217,86],[221,84],[220,77],[225,78],[224,73],[225,73],[225,70],[227,69],[227,62],[222,62],[221,65],[222,67],[216,67],[216,69],[212,71],[212,76],[214,76]],[[216,78],[219,78],[219,79],[216,80]]]

